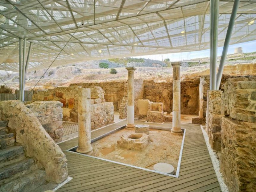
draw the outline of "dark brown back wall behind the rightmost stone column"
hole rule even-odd
[[[199,78],[185,79],[180,82],[181,114],[198,115]],[[164,111],[172,112],[172,82],[144,81],[144,99],[161,102]]]

